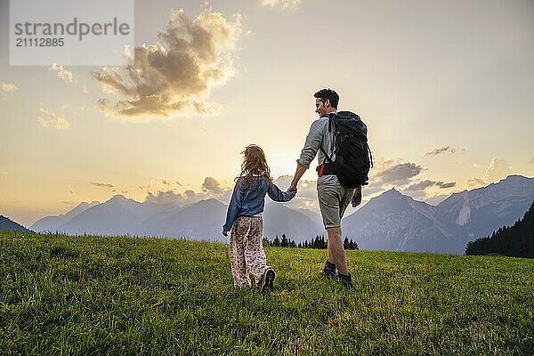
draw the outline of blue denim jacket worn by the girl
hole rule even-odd
[[[231,194],[223,231],[230,231],[231,226],[238,216],[253,216],[262,213],[263,205],[265,204],[265,194],[269,194],[269,197],[274,201],[291,200],[290,192],[279,190],[279,187],[269,182],[264,175],[255,176],[247,190],[241,189],[243,179],[243,177],[239,177]]]

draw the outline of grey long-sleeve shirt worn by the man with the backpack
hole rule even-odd
[[[296,163],[299,166],[305,166],[310,168],[313,158],[317,155],[319,159],[319,165],[323,163],[328,163],[328,158],[325,157],[325,154],[320,150],[322,146],[323,150],[328,153],[328,157],[332,161],[336,160],[336,154],[334,153],[335,149],[335,137],[334,129],[328,132],[328,120],[329,117],[320,117],[319,119],[312,122],[310,126],[310,133],[306,136],[306,142],[304,143],[304,148],[301,151],[301,156],[296,160]],[[319,153],[318,153],[319,152]],[[317,178],[317,185],[340,185],[339,180],[335,174],[322,175]]]

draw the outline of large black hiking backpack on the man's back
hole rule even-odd
[[[367,126],[361,118],[351,111],[339,111],[329,115],[328,132],[334,128],[336,140],[336,161],[328,159],[317,167],[319,176],[336,174],[339,182],[346,188],[357,188],[368,184],[369,169],[373,166],[373,156],[367,140]]]

